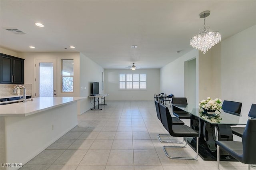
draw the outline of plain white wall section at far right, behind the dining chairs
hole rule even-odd
[[[221,95],[242,102],[242,114],[256,103],[256,25],[221,42]]]

